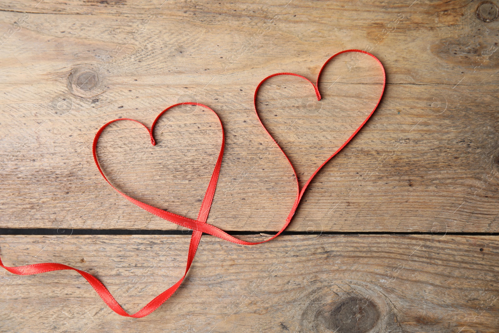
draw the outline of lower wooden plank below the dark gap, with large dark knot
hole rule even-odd
[[[134,312],[182,275],[189,237],[0,239],[5,265],[82,269]],[[495,333],[498,262],[497,236],[206,236],[178,293],[143,319],[112,313],[75,272],[1,270],[0,332]]]

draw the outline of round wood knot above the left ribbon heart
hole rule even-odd
[[[102,92],[102,80],[91,66],[79,65],[69,73],[68,88],[77,96],[93,97]]]

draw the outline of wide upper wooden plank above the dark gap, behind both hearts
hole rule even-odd
[[[13,29],[0,48],[0,227],[177,229],[104,183],[91,142],[111,119],[149,126],[164,107],[197,101],[218,112],[227,140],[209,223],[278,230],[294,179],[257,122],[254,87],[279,71],[313,80],[328,56],[360,48],[385,65],[384,99],[317,175],[289,230],[498,232],[499,20],[479,19],[479,3],[97,2],[0,5],[0,31]],[[301,183],[379,93],[372,61],[338,60],[322,102],[296,79],[275,78],[259,96]],[[214,120],[173,110],[154,149],[138,127],[112,127],[105,171],[140,200],[195,218],[220,142]]]

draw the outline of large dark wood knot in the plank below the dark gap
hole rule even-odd
[[[365,298],[341,301],[329,314],[329,329],[336,333],[367,333],[378,323],[378,306]]]

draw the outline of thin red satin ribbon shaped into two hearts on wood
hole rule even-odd
[[[293,75],[293,76],[300,77],[300,78],[306,80],[307,82],[309,82],[313,86],[313,88],[315,90],[315,94],[317,96],[317,100],[320,100],[321,97],[320,97],[318,83],[319,83],[319,78],[320,78],[320,74],[322,73],[322,70],[324,69],[324,67],[326,66],[326,64],[331,59],[333,59],[335,56],[337,56],[337,55],[339,55],[341,53],[345,53],[345,52],[361,52],[361,53],[364,53],[366,55],[370,55],[371,57],[373,57],[379,63],[379,65],[381,67],[381,70],[383,72],[383,88],[381,90],[381,94],[380,94],[380,97],[378,99],[378,102],[376,103],[376,106],[369,113],[369,115],[365,118],[365,120],[362,122],[362,124],[360,124],[360,126],[352,133],[352,135],[350,135],[350,137],[341,145],[341,147],[339,147],[327,160],[324,161],[324,163],[322,163],[314,171],[314,173],[307,180],[307,182],[305,183],[305,185],[303,186],[303,188],[301,188],[301,190],[300,190],[299,184],[298,184],[298,177],[296,175],[296,171],[294,170],[293,165],[291,164],[291,161],[289,161],[289,158],[286,156],[286,154],[284,153],[284,151],[282,150],[282,148],[280,148],[279,144],[272,138],[272,136],[270,135],[270,133],[268,133],[267,129],[265,128],[265,126],[263,125],[263,123],[261,122],[261,120],[260,120],[260,118],[258,116],[258,111],[256,109],[256,96],[258,94],[258,90],[260,89],[260,86],[267,79],[269,79],[271,77],[274,77],[274,76],[277,76],[277,75]],[[198,249],[198,245],[199,245],[199,242],[201,240],[201,236],[203,235],[203,233],[210,234],[210,235],[222,238],[222,239],[224,239],[226,241],[233,242],[233,243],[236,243],[236,244],[242,244],[242,245],[256,245],[256,244],[261,244],[261,243],[268,242],[269,240],[274,239],[275,237],[279,236],[284,231],[284,229],[286,229],[286,227],[289,225],[289,223],[291,222],[291,218],[293,217],[293,215],[294,215],[294,213],[296,211],[296,208],[298,207],[298,204],[299,204],[299,202],[300,202],[300,200],[301,200],[301,198],[303,196],[303,193],[305,192],[306,188],[310,184],[310,182],[313,179],[313,177],[317,174],[317,172],[331,158],[333,158],[341,149],[343,149],[343,147],[345,147],[348,144],[348,142],[350,142],[350,140],[357,134],[357,132],[362,128],[362,126],[364,126],[364,124],[367,122],[367,120],[374,113],[374,111],[378,107],[378,104],[379,104],[379,102],[381,100],[381,97],[383,96],[383,91],[385,90],[385,82],[386,82],[385,69],[383,68],[383,64],[381,63],[381,61],[379,61],[378,58],[376,58],[374,55],[372,55],[369,52],[362,51],[362,50],[352,49],[352,50],[344,50],[344,51],[338,52],[338,53],[334,54],[333,56],[331,56],[329,59],[327,59],[327,61],[324,63],[324,65],[322,65],[322,68],[319,71],[319,74],[317,76],[317,83],[316,84],[313,84],[306,77],[298,75],[298,74],[295,74],[295,73],[276,73],[276,74],[272,74],[272,75],[269,75],[269,76],[265,77],[256,86],[256,90],[254,92],[254,97],[253,97],[253,104],[254,104],[254,109],[255,109],[255,112],[256,112],[256,117],[258,118],[258,121],[260,122],[260,124],[263,127],[263,129],[265,130],[265,132],[272,138],[272,140],[275,142],[275,144],[281,150],[282,154],[284,154],[284,156],[286,157],[287,161],[289,162],[289,165],[291,166],[291,168],[293,170],[293,173],[294,173],[294,176],[295,176],[295,180],[296,180],[296,198],[295,198],[293,207],[291,208],[291,211],[289,212],[289,215],[287,216],[287,218],[286,218],[286,220],[284,222],[284,225],[282,226],[282,228],[279,230],[279,232],[277,234],[275,234],[274,236],[270,237],[269,239],[267,239],[267,240],[265,240],[263,242],[251,243],[251,242],[242,241],[240,239],[237,239],[237,238],[229,235],[225,231],[223,231],[223,230],[221,230],[221,229],[219,229],[219,228],[217,228],[215,226],[212,226],[211,224],[206,223],[206,220],[208,219],[208,214],[210,212],[210,207],[212,205],[213,197],[215,195],[215,189],[217,188],[217,181],[218,181],[218,177],[219,177],[219,174],[220,174],[220,166],[222,164],[222,157],[223,157],[223,154],[224,154],[225,140],[224,140],[224,129],[223,129],[223,127],[222,127],[222,132],[221,132],[221,134],[222,134],[222,145],[221,145],[221,148],[220,148],[220,153],[219,153],[219,156],[218,156],[218,159],[217,159],[217,163],[215,164],[215,169],[213,170],[213,174],[212,174],[212,177],[210,179],[210,183],[208,184],[208,188],[206,190],[205,197],[204,197],[203,202],[201,204],[201,208],[199,210],[199,214],[198,214],[197,220],[189,219],[189,218],[181,216],[181,215],[177,215],[177,214],[173,214],[173,213],[164,211],[162,209],[156,208],[156,207],[151,206],[151,205],[147,205],[147,204],[145,204],[145,203],[143,203],[141,201],[138,201],[138,200],[136,200],[134,198],[131,198],[131,197],[127,196],[125,193],[122,193],[118,189],[116,189],[109,182],[109,180],[107,180],[106,176],[102,172],[102,169],[100,168],[99,162],[97,160],[97,152],[96,152],[96,150],[97,150],[97,142],[99,140],[99,137],[100,137],[102,131],[107,126],[109,126],[110,124],[112,124],[113,122],[123,121],[123,120],[129,120],[129,121],[134,121],[136,123],[141,124],[142,126],[144,126],[144,128],[149,133],[149,136],[151,138],[151,143],[154,146],[154,145],[156,145],[156,141],[154,140],[154,135],[153,135],[154,126],[156,125],[156,122],[158,121],[158,119],[163,115],[163,113],[165,113],[169,109],[171,109],[172,107],[175,107],[177,105],[181,105],[181,104],[183,104],[183,105],[185,105],[185,104],[188,104],[188,105],[198,105],[198,106],[205,107],[205,108],[209,109],[210,111],[212,111],[213,113],[215,113],[215,115],[217,115],[217,113],[215,111],[213,111],[211,108],[209,108],[206,105],[199,104],[199,103],[194,103],[194,102],[178,103],[178,104],[172,105],[172,106],[166,108],[165,110],[163,110],[156,117],[156,119],[153,121],[153,124],[151,125],[151,129],[150,130],[144,124],[142,124],[141,122],[139,122],[137,120],[134,120],[134,119],[127,119],[127,118],[111,120],[110,122],[108,122],[104,126],[102,126],[99,129],[99,131],[97,132],[97,134],[95,135],[95,138],[94,138],[94,141],[93,141],[93,145],[92,145],[92,154],[93,154],[93,158],[94,158],[94,161],[95,161],[95,165],[97,166],[97,169],[99,169],[100,174],[102,175],[102,177],[104,177],[104,179],[106,180],[106,182],[108,182],[109,185],[111,185],[111,187],[113,189],[115,189],[119,194],[121,194],[127,200],[131,201],[132,203],[134,203],[135,205],[139,206],[140,208],[145,209],[149,213],[152,213],[152,214],[154,214],[156,216],[159,216],[160,218],[162,218],[164,220],[173,222],[175,224],[178,224],[180,226],[183,226],[183,227],[186,227],[188,229],[192,229],[193,230],[193,233],[192,233],[192,236],[191,236],[191,243],[189,245],[189,252],[188,252],[188,255],[187,255],[187,265],[186,265],[186,270],[185,270],[184,276],[175,285],[173,285],[172,287],[170,287],[169,289],[167,289],[166,291],[164,291],[163,293],[161,293],[160,295],[158,295],[151,302],[149,302],[145,307],[143,307],[141,310],[139,310],[137,313],[135,313],[133,315],[129,315],[125,310],[123,310],[123,308],[118,304],[118,302],[116,302],[116,300],[111,295],[111,293],[109,293],[109,291],[107,290],[107,288],[104,287],[104,285],[97,278],[95,278],[94,276],[92,276],[92,275],[90,275],[90,274],[88,274],[86,272],[80,271],[80,270],[78,270],[76,268],[72,268],[72,267],[69,267],[69,266],[66,266],[66,265],[56,264],[56,263],[43,263],[43,264],[26,265],[26,266],[20,266],[20,267],[6,267],[6,266],[3,266],[3,263],[1,262],[1,260],[0,260],[0,266],[3,267],[4,269],[6,269],[7,271],[9,271],[10,273],[17,274],[17,275],[33,275],[33,274],[39,274],[39,273],[44,273],[44,272],[61,271],[61,270],[73,270],[73,271],[76,271],[76,272],[78,272],[82,277],[84,277],[88,281],[88,283],[93,287],[93,289],[95,289],[95,291],[97,292],[97,294],[99,294],[99,296],[102,298],[102,300],[115,313],[117,313],[120,316],[124,316],[124,317],[133,317],[133,318],[142,318],[142,317],[145,317],[145,316],[149,315],[150,313],[152,313],[153,311],[155,311],[166,300],[168,300],[168,298],[170,298],[170,296],[172,296],[175,293],[175,291],[179,288],[179,286],[182,283],[182,281],[184,281],[184,278],[186,277],[187,272],[189,271],[189,268],[191,267],[191,264],[192,264],[192,262],[194,260],[194,256],[196,255],[196,250]],[[217,118],[218,118],[218,115],[217,115]],[[220,125],[222,126],[222,122],[220,121],[220,118],[218,118],[218,120],[220,122]]]

